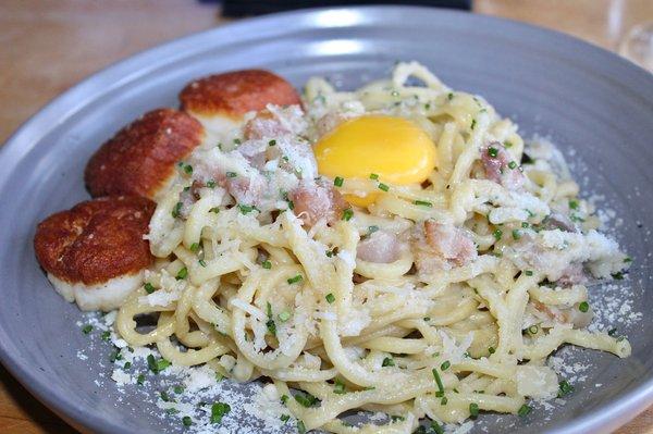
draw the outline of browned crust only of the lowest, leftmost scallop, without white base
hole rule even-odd
[[[143,239],[155,203],[111,196],[50,215],[36,228],[34,250],[41,266],[69,283],[93,285],[132,274],[152,262]]]

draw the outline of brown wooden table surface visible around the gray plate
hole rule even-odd
[[[616,51],[653,0],[476,0],[475,11],[569,33]],[[1,0],[0,144],[79,79],[162,41],[227,20],[215,4],[183,0]],[[74,433],[0,367],[0,432]],[[653,433],[650,408],[618,434]]]

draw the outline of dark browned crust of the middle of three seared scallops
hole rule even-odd
[[[94,197],[138,195],[152,199],[175,163],[204,138],[199,122],[173,109],[158,109],[127,125],[90,158],[84,181]]]

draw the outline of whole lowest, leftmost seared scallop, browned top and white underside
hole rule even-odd
[[[82,310],[112,310],[143,285],[152,263],[148,232],[155,203],[111,196],[78,203],[38,224],[36,258],[54,289]]]

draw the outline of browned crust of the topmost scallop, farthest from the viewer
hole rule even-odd
[[[239,119],[267,104],[299,104],[299,95],[285,79],[264,70],[234,71],[190,82],[180,94],[182,110]]]

